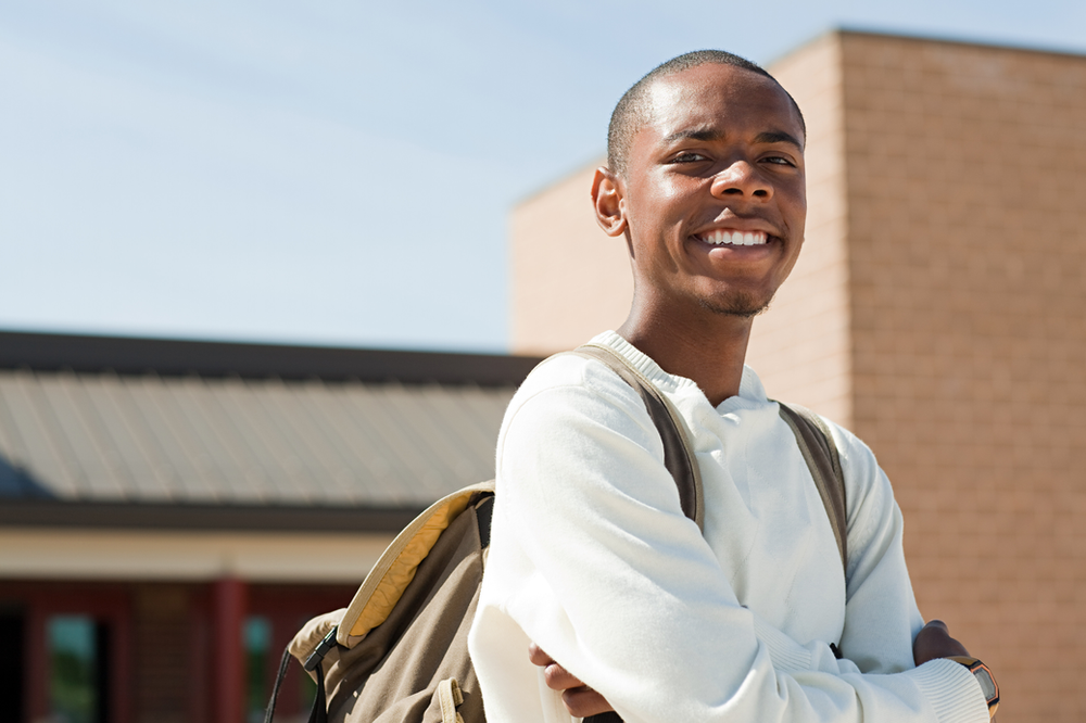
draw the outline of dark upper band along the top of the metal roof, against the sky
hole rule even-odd
[[[0,369],[480,386],[517,385],[539,357],[0,332]]]

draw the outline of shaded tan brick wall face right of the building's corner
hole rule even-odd
[[[838,37],[854,429],[1000,720],[1083,720],[1086,58]]]

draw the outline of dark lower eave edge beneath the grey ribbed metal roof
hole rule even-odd
[[[397,533],[424,507],[58,503],[2,499],[0,528]]]

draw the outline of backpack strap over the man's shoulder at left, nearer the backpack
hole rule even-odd
[[[664,466],[671,472],[679,487],[679,502],[682,511],[697,523],[698,530],[705,529],[705,497],[702,492],[702,472],[690,448],[690,441],[683,427],[679,410],[643,373],[637,371],[627,359],[602,344],[584,344],[571,352],[586,356],[605,364],[617,373],[622,381],[632,386],[645,403],[648,416],[652,417],[656,430],[664,441]]]

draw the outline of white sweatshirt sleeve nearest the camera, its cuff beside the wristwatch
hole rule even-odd
[[[506,418],[487,574],[504,579],[490,595],[528,639],[627,723],[988,720],[972,674],[950,661],[778,670],[683,515],[640,398],[617,384],[518,395]]]

